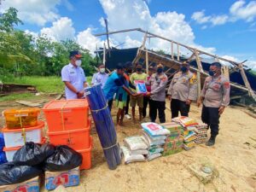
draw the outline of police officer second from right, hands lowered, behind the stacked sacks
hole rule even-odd
[[[189,71],[189,63],[183,62],[180,71],[176,73],[168,89],[171,101],[172,118],[189,116],[190,104],[197,99],[197,79],[195,73]]]

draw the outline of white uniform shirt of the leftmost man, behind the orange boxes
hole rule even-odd
[[[82,67],[74,67],[73,64],[69,63],[64,66],[61,70],[62,81],[70,82],[74,88],[78,91],[84,90],[84,82],[86,82],[84,70]],[[72,90],[65,87],[66,99],[77,99],[78,95]]]

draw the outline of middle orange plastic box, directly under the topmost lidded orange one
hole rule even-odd
[[[54,145],[67,145],[75,150],[90,148],[91,119],[87,119],[87,127],[72,131],[48,132],[49,143]]]

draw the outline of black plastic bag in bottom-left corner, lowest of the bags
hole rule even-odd
[[[13,162],[0,165],[0,185],[25,182],[43,174],[37,166],[16,166]]]

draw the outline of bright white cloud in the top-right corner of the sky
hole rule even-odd
[[[253,21],[256,18],[256,1],[247,3],[244,0],[237,1],[230,7],[230,14],[235,20]]]

